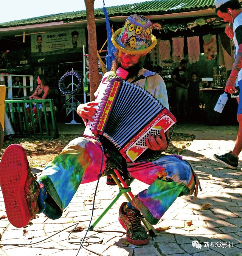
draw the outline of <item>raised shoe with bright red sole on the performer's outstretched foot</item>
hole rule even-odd
[[[35,180],[24,148],[8,146],[0,161],[0,186],[9,222],[16,228],[26,226],[39,210],[39,183]]]

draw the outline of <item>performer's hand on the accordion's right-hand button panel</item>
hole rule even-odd
[[[166,131],[168,132],[168,131]],[[160,136],[159,135],[152,135],[151,133],[148,135],[148,138],[145,140],[146,145],[149,149],[155,150],[155,151],[164,151],[166,147],[168,146],[166,141],[166,136],[164,134],[164,129],[160,130]]]

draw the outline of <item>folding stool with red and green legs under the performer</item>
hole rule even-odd
[[[119,197],[121,197],[122,194],[124,194],[128,202],[131,201],[131,199],[134,197],[133,193],[131,192],[131,188],[129,187],[129,185],[133,182],[134,178],[131,178],[129,180],[129,184],[127,184],[127,182],[124,181],[123,177],[120,175],[118,170],[113,169],[113,171],[115,172],[116,175],[111,174],[111,176],[119,187],[119,193],[116,195],[113,201],[109,204],[109,206],[107,206],[107,208],[102,212],[102,214],[98,217],[98,219],[96,219],[95,222],[90,226],[89,230],[94,230],[94,227],[98,224],[98,222],[102,219],[102,217],[109,211],[109,209],[115,204],[115,202],[119,199]],[[121,181],[123,186],[119,181]],[[146,229],[149,231],[150,236],[156,236],[154,230],[152,230],[150,225],[147,223],[146,219],[144,219],[143,217],[141,217],[140,219],[143,222]]]

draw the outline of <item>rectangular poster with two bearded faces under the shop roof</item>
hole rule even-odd
[[[85,45],[85,29],[69,29],[31,35],[31,55],[81,52]]]

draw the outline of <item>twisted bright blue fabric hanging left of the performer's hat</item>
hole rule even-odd
[[[104,2],[103,2],[104,3]],[[105,16],[106,21],[106,29],[107,29],[107,55],[106,55],[106,66],[107,71],[110,71],[112,61],[115,59],[114,53],[116,51],[116,48],[114,47],[111,37],[112,37],[112,31],[109,25],[109,17],[107,16],[107,9],[105,7],[102,8],[102,11]]]

